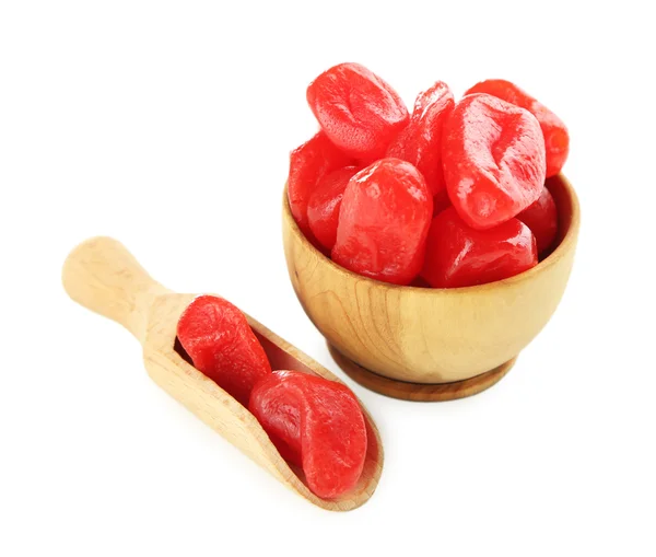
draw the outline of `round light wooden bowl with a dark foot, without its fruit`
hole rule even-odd
[[[435,401],[499,381],[558,306],[572,270],[579,208],[561,174],[557,247],[532,269],[467,288],[399,287],[355,275],[315,248],[283,200],[283,242],[294,291],[340,367],[389,396]]]

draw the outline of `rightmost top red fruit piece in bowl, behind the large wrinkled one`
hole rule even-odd
[[[540,123],[547,150],[547,177],[557,175],[570,153],[570,134],[555,114],[526,91],[503,79],[489,79],[473,85],[467,93],[487,93],[530,112]]]

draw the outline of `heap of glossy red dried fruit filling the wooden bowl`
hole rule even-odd
[[[412,115],[380,78],[341,63],[307,88],[320,130],[291,154],[292,214],[354,272],[434,288],[501,280],[549,252],[557,207],[544,179],[567,158],[565,125],[508,81],[456,103],[442,81]]]

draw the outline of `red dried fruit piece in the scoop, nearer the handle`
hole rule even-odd
[[[255,384],[271,373],[246,316],[223,298],[196,298],[180,315],[177,337],[194,367],[244,406]]]

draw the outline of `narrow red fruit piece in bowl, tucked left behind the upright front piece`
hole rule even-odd
[[[347,184],[358,172],[358,166],[344,166],[326,174],[315,188],[307,204],[309,229],[328,251],[337,240],[339,209]]]

